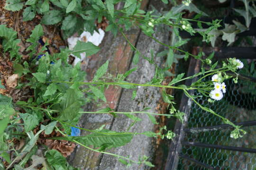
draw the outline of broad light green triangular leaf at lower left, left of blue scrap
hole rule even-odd
[[[25,132],[33,130],[39,124],[37,114],[19,113],[19,116],[24,121]]]

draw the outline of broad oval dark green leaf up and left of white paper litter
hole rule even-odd
[[[62,21],[62,12],[59,10],[50,10],[46,12],[41,22],[45,25],[54,25]]]

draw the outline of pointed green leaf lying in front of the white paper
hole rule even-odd
[[[72,54],[81,59],[80,53],[86,52],[86,56],[91,56],[97,53],[100,50],[100,47],[94,45],[91,42],[81,42],[77,41]]]

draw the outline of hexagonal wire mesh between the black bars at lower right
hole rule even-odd
[[[227,85],[227,93],[224,94],[224,98],[221,101],[210,103],[206,97],[200,97],[198,98],[199,103],[233,122],[256,120],[256,83],[247,80],[240,80],[238,84],[234,84],[232,81],[225,83]],[[200,95],[200,93],[195,92],[195,95]],[[201,110],[196,104],[192,105],[188,128],[221,124],[224,123],[219,117]],[[230,137],[231,129],[229,128],[200,133],[187,133],[184,141],[256,148],[256,126],[243,127],[243,129],[247,131],[247,134],[239,139]],[[256,154],[254,153],[195,146],[183,146],[181,153],[219,170],[256,170]],[[177,170],[207,169],[180,158]]]

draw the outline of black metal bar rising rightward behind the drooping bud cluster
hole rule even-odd
[[[248,126],[256,126],[256,120],[252,121],[244,121],[239,123],[234,123],[238,126],[248,127]],[[194,127],[194,128],[185,128],[183,129],[184,132],[190,132],[190,133],[199,133],[199,132],[207,132],[212,130],[219,130],[219,129],[225,129],[230,128],[231,125],[224,124],[224,125],[216,125],[216,126],[209,126],[209,127]]]

